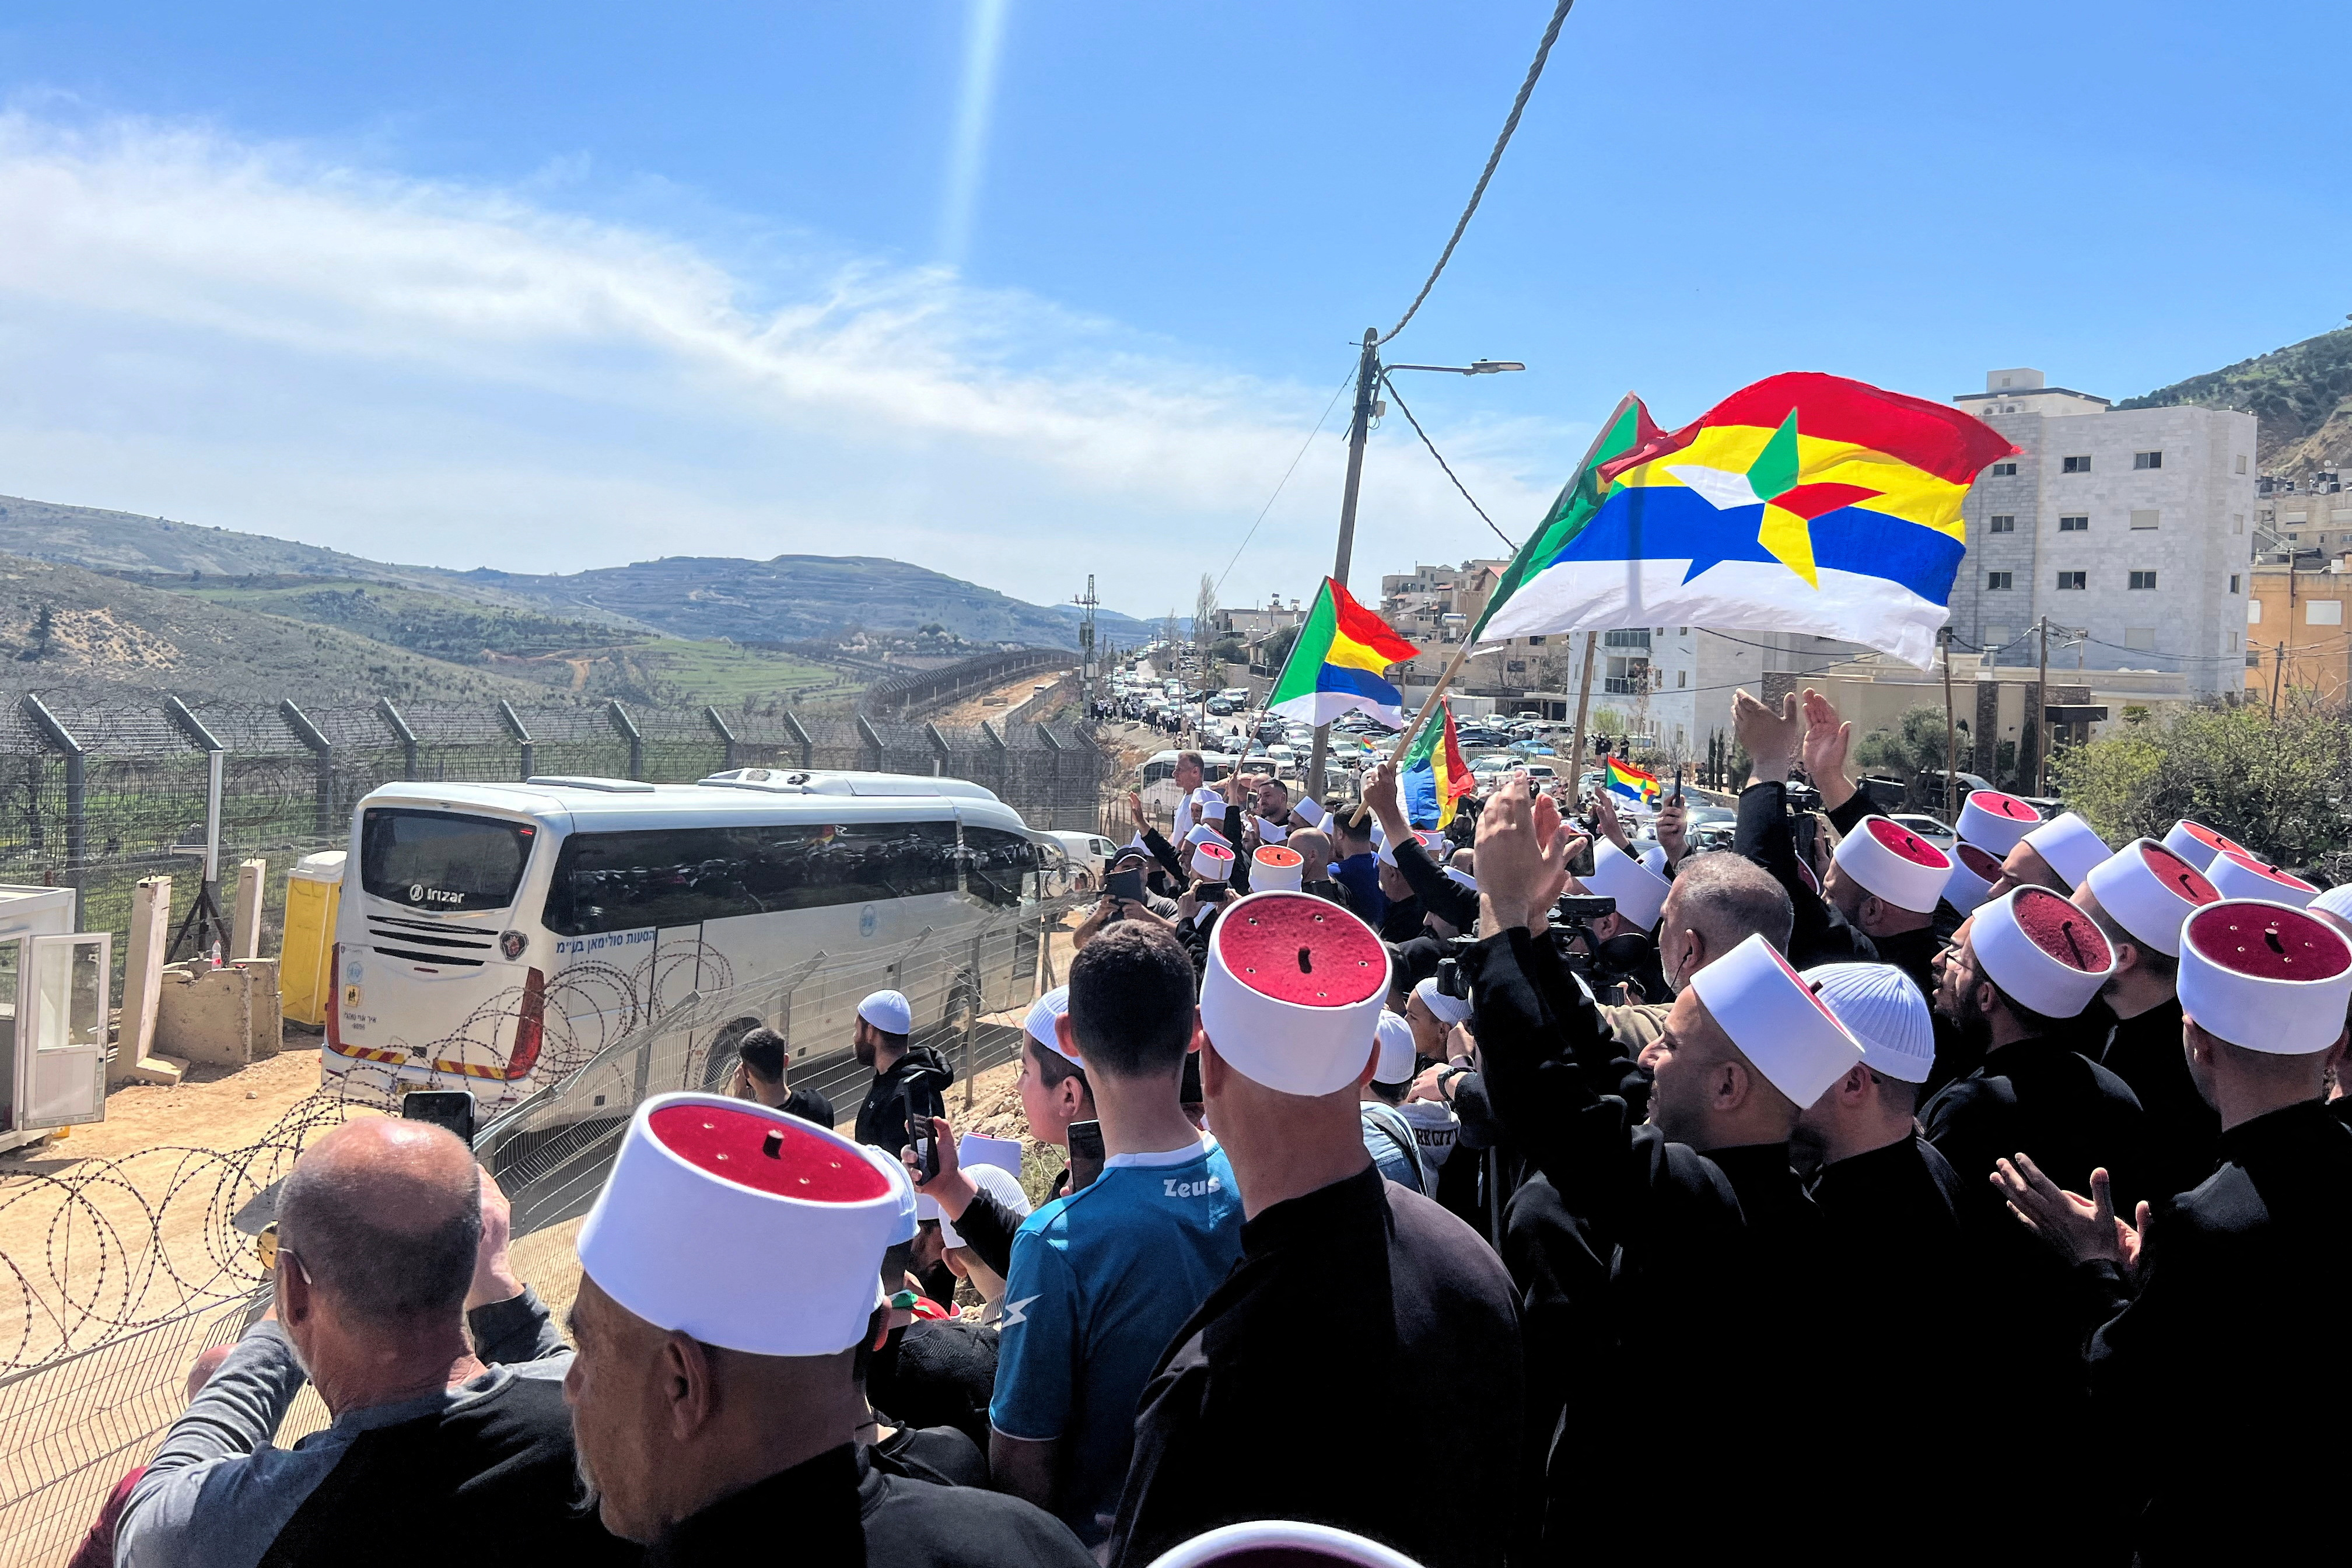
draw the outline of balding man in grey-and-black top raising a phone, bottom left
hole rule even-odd
[[[348,1121],[294,1161],[270,1316],[172,1422],[115,1561],[630,1563],[635,1547],[574,1507],[567,1363],[508,1272],[506,1201],[466,1145],[423,1121]],[[334,1425],[273,1448],[306,1373]]]

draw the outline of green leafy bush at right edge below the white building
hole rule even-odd
[[[2340,865],[2352,851],[2352,715],[2288,701],[2197,708],[2169,724],[2122,724],[2051,757],[2067,806],[2100,837],[2161,839],[2197,818],[2281,865]]]

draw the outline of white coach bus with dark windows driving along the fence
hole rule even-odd
[[[917,940],[955,959],[898,985],[936,1037],[1028,1001],[1021,912],[1065,882],[1061,844],[957,778],[393,783],[353,813],[320,1063],[388,1098],[470,1088],[489,1119],[689,994]],[[764,1018],[795,1074],[863,997],[807,990]]]

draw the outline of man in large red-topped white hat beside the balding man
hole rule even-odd
[[[564,1378],[604,1526],[652,1563],[764,1559],[781,1533],[795,1563],[1082,1568],[1030,1505],[884,1474],[851,1441],[913,1229],[880,1150],[743,1100],[640,1105],[581,1225]]]

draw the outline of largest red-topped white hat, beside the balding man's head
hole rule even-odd
[[[915,1234],[894,1157],[750,1100],[654,1095],[579,1232],[581,1269],[663,1331],[753,1356],[830,1356]]]

